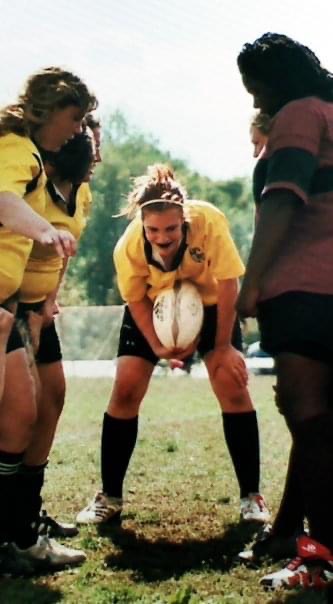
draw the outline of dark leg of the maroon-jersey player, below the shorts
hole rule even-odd
[[[278,400],[293,436],[295,476],[310,534],[333,548],[333,414],[330,365],[300,355],[277,358]]]

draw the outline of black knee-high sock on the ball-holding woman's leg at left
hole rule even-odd
[[[138,417],[118,419],[104,414],[101,470],[103,492],[122,497],[123,482],[138,435]]]

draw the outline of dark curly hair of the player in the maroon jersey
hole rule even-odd
[[[312,50],[283,34],[265,33],[252,44],[244,44],[237,64],[242,76],[276,94],[280,108],[307,96],[333,101],[333,74]]]

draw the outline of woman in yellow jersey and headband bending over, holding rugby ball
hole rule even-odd
[[[173,172],[151,166],[129,195],[135,215],[115,248],[121,295],[126,302],[120,331],[117,373],[102,431],[102,489],[77,516],[78,523],[102,523],[119,516],[123,481],[135,447],[138,412],[160,358],[202,356],[222,410],[225,438],[240,486],[244,520],[265,522],[259,494],[259,437],[247,390],[247,371],[236,319],[238,278],[244,267],[225,216],[215,206],[186,198]],[[164,288],[195,283],[204,303],[197,344],[169,350],[159,341],[152,307]]]

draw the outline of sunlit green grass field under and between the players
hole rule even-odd
[[[100,426],[110,381],[71,379],[44,499],[72,519],[99,488]],[[262,440],[262,491],[273,511],[289,436],[272,402],[272,378],[251,377]],[[258,570],[235,563],[253,527],[238,523],[238,489],[221,417],[204,379],[156,377],[146,397],[126,483],[122,526],[82,528],[71,544],[87,562],[29,579],[2,579],[1,604],[265,604],[324,602],[308,592],[265,593]]]

